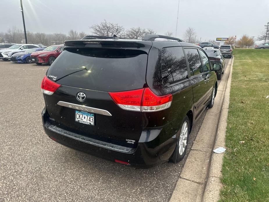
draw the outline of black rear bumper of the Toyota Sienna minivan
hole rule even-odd
[[[167,144],[158,145],[156,139],[149,142],[139,142],[137,148],[131,148],[81,136],[51,123],[46,108],[42,111],[42,122],[45,133],[60,144],[102,159],[113,162],[120,160],[140,168],[150,168],[168,161],[176,147],[176,139],[172,139],[174,147],[169,147],[166,150]],[[171,139],[168,142],[171,142]]]

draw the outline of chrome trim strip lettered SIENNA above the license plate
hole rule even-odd
[[[102,114],[105,116],[112,116],[109,111],[106,111],[104,109],[97,109],[97,108],[93,108],[93,107],[87,107],[84,105],[73,104],[73,103],[63,102],[63,101],[59,101],[57,104],[60,106],[63,106],[63,107],[69,107],[69,108],[78,109],[81,111],[91,112],[91,113],[95,113],[95,114]]]

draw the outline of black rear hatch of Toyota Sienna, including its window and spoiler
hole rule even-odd
[[[121,109],[108,92],[145,86],[147,54],[151,46],[152,42],[143,41],[65,42],[64,51],[46,75],[61,85],[52,95],[44,94],[50,120],[60,128],[87,137],[136,147],[142,131],[141,112]],[[84,93],[85,100],[78,93]],[[85,107],[95,109],[88,111]],[[92,120],[90,124],[85,120],[75,121],[79,114],[90,114],[93,123]]]

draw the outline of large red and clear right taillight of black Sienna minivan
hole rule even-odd
[[[160,111],[170,107],[172,94],[158,96],[149,88],[109,93],[122,109],[131,111]]]

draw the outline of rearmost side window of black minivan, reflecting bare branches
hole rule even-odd
[[[171,84],[187,78],[188,70],[182,47],[162,49],[161,75],[162,84]]]

